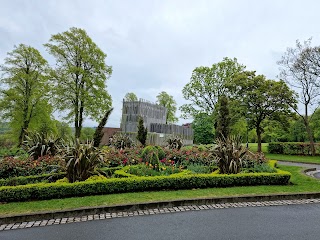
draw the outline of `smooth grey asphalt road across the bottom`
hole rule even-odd
[[[320,204],[201,210],[0,232],[1,240],[319,239]]]

